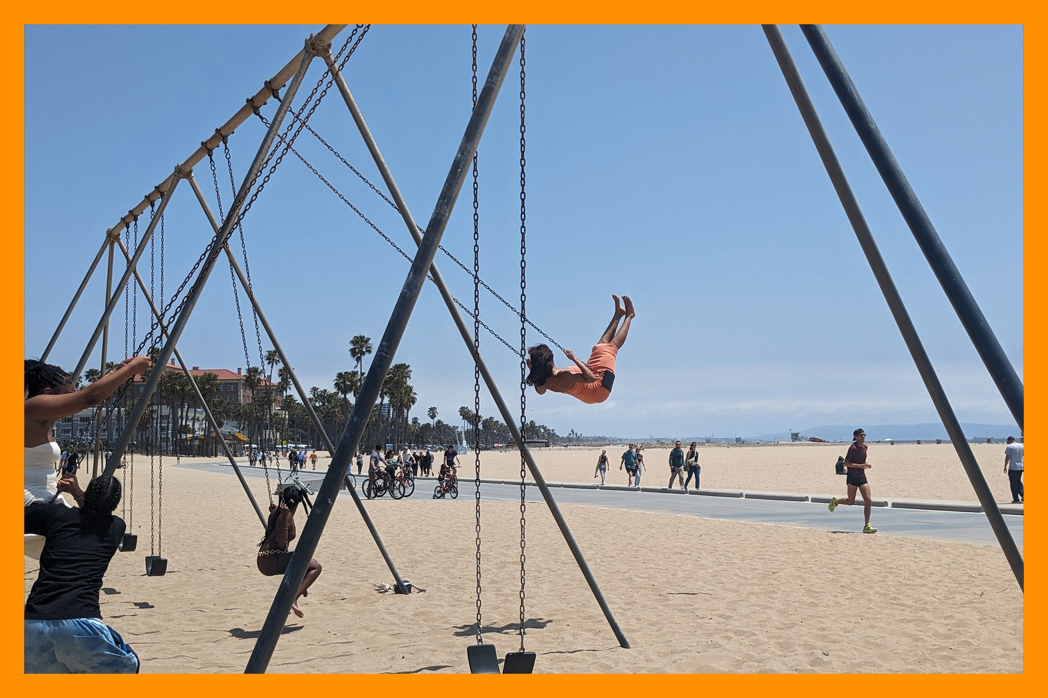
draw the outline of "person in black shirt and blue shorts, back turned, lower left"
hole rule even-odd
[[[85,493],[73,476],[59,480],[80,509],[57,502],[25,508],[25,532],[45,536],[40,573],[25,602],[26,674],[137,674],[138,656],[102,622],[99,590],[125,524],[113,510],[121,481],[91,480]]]

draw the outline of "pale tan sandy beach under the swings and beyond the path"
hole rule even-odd
[[[761,489],[832,491],[838,479],[821,471],[832,473],[838,448],[782,447],[798,456],[788,467],[757,465],[751,454],[766,449],[707,448],[703,464],[720,473],[711,486],[740,487],[747,480],[729,478],[756,478],[770,468],[782,481],[760,481]],[[907,449],[872,447],[870,459],[898,469],[900,485],[934,485],[935,472],[908,479],[905,464],[889,466],[889,451]],[[501,457],[505,463],[493,468],[508,474],[512,455]],[[542,457],[552,480],[582,478],[584,467],[591,476],[595,454]],[[809,472],[816,464],[820,472]],[[916,467],[932,470],[909,465]],[[101,595],[105,621],[139,652],[145,673],[241,672],[279,582],[256,569],[259,521],[233,475],[166,467],[169,572],[147,578],[149,481],[148,459],[139,457],[132,526],[138,550],[118,553],[110,565]],[[250,483],[265,501],[264,480]],[[903,493],[937,494],[895,494]],[[289,618],[269,671],[468,671],[472,498],[423,494],[366,505],[401,572],[427,591],[376,592],[376,584],[391,581],[389,571],[350,500],[341,498],[316,551],[324,572],[303,600],[306,617]],[[633,649],[617,646],[551,517],[532,504],[526,627],[537,672],[1023,671],[1023,595],[996,547],[586,505],[563,511]],[[300,526],[303,520],[300,514]],[[484,627],[500,654],[518,646],[518,536],[517,505],[485,502]],[[25,562],[28,593],[36,563]]]

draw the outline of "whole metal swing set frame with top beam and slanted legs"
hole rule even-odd
[[[405,329],[407,328],[407,323],[411,317],[412,310],[414,309],[421,288],[427,279],[427,276],[429,276],[440,292],[444,303],[447,306],[452,319],[458,328],[459,333],[461,334],[462,339],[466,343],[471,356],[474,359],[477,373],[480,378],[483,379],[493,401],[498,407],[499,412],[502,414],[503,421],[509,428],[514,440],[518,444],[522,458],[528,471],[531,473],[534,483],[538,486],[550,514],[553,516],[553,519],[556,522],[568,548],[575,558],[575,561],[578,564],[583,577],[586,579],[594,599],[601,606],[612,632],[615,634],[620,647],[629,648],[629,641],[615,620],[613,612],[608,606],[608,603],[605,600],[604,594],[582,554],[582,550],[578,548],[567,522],[561,514],[556,501],[554,500],[544,477],[542,476],[542,472],[536,464],[530,450],[527,448],[527,443],[517,427],[514,413],[509,410],[508,405],[502,398],[502,395],[499,391],[483,357],[480,355],[479,348],[475,345],[474,334],[471,332],[471,328],[468,328],[465,319],[459,312],[460,305],[452,296],[451,291],[434,263],[434,256],[440,245],[441,237],[443,235],[459,193],[468,175],[470,165],[473,161],[474,155],[476,154],[477,147],[483,135],[488,116],[492,113],[492,109],[494,108],[499,91],[507,74],[510,60],[521,42],[521,37],[524,32],[524,25],[511,24],[508,25],[505,30],[424,231],[416,225],[415,219],[413,218],[407,202],[403,200],[393,175],[386,164],[378,145],[371,135],[367,122],[365,121],[364,116],[361,113],[348,85],[346,84],[342,71],[340,70],[340,66],[331,55],[331,41],[347,26],[348,25],[344,24],[329,24],[316,35],[311,35],[305,42],[304,48],[276,75],[266,81],[263,89],[259,90],[259,92],[249,97],[244,106],[241,107],[233,117],[231,117],[222,127],[216,129],[215,133],[210,138],[201,142],[200,148],[198,148],[183,162],[176,165],[174,172],[168,178],[166,178],[160,184],[156,185],[143,199],[143,201],[129,210],[126,216],[122,217],[115,226],[106,231],[106,239],[103,242],[102,247],[99,249],[97,254],[90,264],[87,274],[73,295],[73,298],[60,320],[46,350],[41,355],[41,360],[46,360],[48,354],[53,348],[81,295],[87,287],[88,282],[96,270],[103,254],[105,254],[108,250],[109,264],[106,282],[106,309],[87,344],[87,347],[85,348],[81,361],[78,363],[73,373],[73,380],[75,381],[77,377],[79,377],[80,373],[86,365],[87,359],[93,352],[100,336],[103,338],[104,354],[102,365],[103,370],[105,369],[105,346],[108,338],[109,317],[115,308],[117,297],[124,292],[130,277],[133,275],[139,289],[145,294],[146,300],[150,306],[151,312],[155,317],[155,322],[158,324],[158,329],[163,338],[157,364],[163,366],[168,364],[172,356],[176,358],[179,365],[189,377],[197,399],[204,406],[204,412],[209,424],[216,432],[218,432],[218,428],[216,426],[217,423],[212,415],[211,410],[208,408],[206,403],[202,400],[199,387],[190,374],[188,364],[178,353],[176,343],[185,328],[193,308],[199,299],[200,293],[202,292],[208,277],[214,269],[218,257],[224,252],[232,268],[234,269],[237,279],[240,282],[241,288],[244,290],[252,302],[254,312],[257,313],[258,318],[265,329],[274,348],[279,354],[281,362],[287,370],[296,391],[299,393],[303,405],[308,410],[310,420],[313,422],[324,444],[329,449],[329,452],[332,453],[331,465],[329,466],[324,481],[312,502],[312,506],[302,531],[302,536],[296,546],[287,571],[280,583],[272,605],[266,616],[265,623],[263,624],[261,633],[245,669],[245,673],[264,673],[276,649],[277,641],[280,638],[281,631],[283,630],[291,604],[293,603],[296,592],[303,577],[305,576],[306,568],[313,556],[320,541],[320,537],[324,532],[324,527],[327,523],[328,517],[330,516],[339,492],[343,487],[346,487],[352,495],[352,498],[356,503],[357,511],[364,519],[372,538],[374,539],[394,577],[397,591],[399,593],[408,592],[408,589],[403,584],[405,578],[400,576],[393,564],[389,553],[381,542],[378,532],[371,522],[370,517],[361,502],[352,480],[348,477],[348,473],[352,463],[352,457],[356,453],[359,446],[368,416],[373,405],[378,399],[378,392],[381,387],[383,380],[385,379],[386,373],[392,363],[393,357],[403,335]],[[975,460],[970,446],[964,437],[960,424],[953,412],[941,384],[938,381],[931,360],[924,352],[917,332],[910,320],[905,307],[902,303],[902,299],[892,282],[887,266],[885,265],[876,243],[873,240],[872,232],[863,217],[854,194],[848,185],[844,171],[836,159],[832,145],[829,142],[829,138],[827,137],[825,130],[822,128],[817,113],[815,112],[814,106],[807,94],[804,83],[801,80],[795,65],[793,64],[785,41],[783,40],[777,25],[763,25],[763,28],[772,53],[774,54],[783,75],[786,78],[790,92],[796,103],[798,109],[801,112],[830,180],[848,215],[849,221],[852,224],[859,244],[863,247],[864,253],[866,254],[871,269],[874,272],[878,286],[888,301],[893,317],[899,327],[900,333],[902,334],[907,346],[914,359],[915,364],[917,365],[918,371],[924,381],[925,387],[932,397],[937,411],[939,412],[940,419],[951,436],[951,442],[957,450],[961,464],[971,481],[1002,550],[1011,566],[1020,588],[1022,588],[1024,569],[1022,555],[1019,553],[1019,549],[1011,538],[1011,534],[1008,531],[989,488],[982,476],[982,472],[979,470],[978,464]],[[817,25],[802,25],[801,28],[809,45],[814,51],[821,66],[823,67],[824,72],[833,86],[834,91],[840,99],[842,105],[848,113],[854,128],[863,139],[863,142],[877,166],[882,179],[885,180],[886,185],[899,206],[903,218],[911,228],[911,231],[920,244],[930,266],[939,278],[944,292],[953,303],[958,317],[961,319],[962,324],[973,341],[973,344],[979,352],[980,357],[983,359],[987,370],[1001,391],[1001,395],[1014,416],[1017,424],[1020,426],[1020,429],[1022,429],[1022,381],[1019,379],[1007,356],[1001,348],[992,330],[989,328],[989,323],[983,317],[981,310],[968,291],[967,286],[964,284],[960,273],[957,271],[956,266],[954,266],[949,254],[946,252],[945,247],[938,238],[938,233],[935,231],[934,226],[932,226],[931,220],[921,207],[920,202],[907,181],[905,176],[902,174],[901,167],[899,167],[898,163],[895,161],[887,142],[877,129],[876,123],[873,121],[873,117],[863,104],[863,100],[858,95],[858,91],[855,89],[854,84],[852,84],[851,78],[840,62],[840,59],[833,50],[832,45],[830,45],[825,31],[823,31],[823,29]],[[279,129],[283,123],[285,116],[289,113],[291,102],[302,84],[303,77],[310,66],[310,63],[314,58],[320,58],[324,61],[326,65],[325,76],[330,75],[331,81],[333,81],[334,85],[337,87],[353,122],[359,131],[361,136],[364,139],[384,182],[386,183],[389,194],[400,212],[408,232],[412,235],[412,239],[418,247],[417,252],[412,260],[411,269],[408,272],[402,290],[398,295],[396,305],[391,313],[386,331],[375,350],[371,369],[368,371],[364,384],[361,387],[352,413],[349,416],[349,421],[347,422],[345,430],[337,444],[335,444],[325,431],[323,424],[312,408],[308,395],[299,382],[287,356],[277,339],[276,333],[272,331],[271,325],[266,319],[258,298],[253,293],[248,279],[240,269],[227,245],[230,235],[242,217],[241,211],[244,208],[245,202],[250,194],[250,189],[261,174],[261,168],[265,162],[268,162],[268,160],[265,160],[265,162],[263,161],[266,154],[274,148],[278,138],[284,140],[284,137],[279,134]],[[284,95],[281,96],[279,95],[279,90],[284,89],[285,85],[286,91]],[[236,193],[234,201],[230,206],[230,210],[220,222],[215,218],[202,192],[200,190],[199,185],[193,178],[193,166],[202,161],[212,151],[218,148],[224,138],[233,134],[237,127],[247,120],[253,114],[258,114],[258,109],[265,105],[270,97],[277,97],[280,102],[280,106],[278,107],[272,120],[268,123],[268,129],[262,139],[262,143],[259,147],[252,166],[241,180],[239,190]],[[310,114],[312,112],[310,111]],[[305,126],[305,120],[299,118],[298,115],[292,115],[292,118],[302,123],[302,126],[299,127],[299,131],[301,131],[302,127]],[[308,119],[308,115],[305,119]],[[287,148],[290,148],[290,143],[288,141],[284,142],[287,144]],[[196,196],[202,210],[215,231],[215,239],[205,250],[206,254],[203,255],[201,257],[201,262],[198,263],[200,270],[193,286],[189,290],[188,297],[183,299],[183,302],[179,307],[174,320],[169,323],[165,321],[165,311],[158,309],[149,296],[145,282],[138,274],[137,263],[146,249],[146,243],[149,242],[156,222],[159,221],[160,216],[163,212],[163,208],[170,201],[171,196],[178,183],[182,180],[187,180],[193,189],[194,195]],[[257,195],[258,192],[256,192],[255,196]],[[252,198],[252,201],[254,201],[254,198]],[[146,233],[139,241],[137,249],[133,252],[128,250],[121,240],[121,231],[132,223],[138,215],[144,212],[147,207],[152,207],[157,202],[159,202],[159,206],[156,208],[155,215],[147,227]],[[248,207],[250,203],[247,203]],[[121,253],[127,261],[127,270],[114,288],[112,284],[112,260],[116,247],[119,247]],[[193,272],[191,272],[191,275],[192,273]],[[475,322],[479,321],[479,318],[475,316],[472,317],[472,319],[474,319]],[[526,320],[526,318],[523,319]],[[151,371],[151,375],[147,379],[146,385],[144,386],[143,397],[151,395],[155,390],[161,373],[162,370]],[[121,458],[127,449],[137,423],[146,409],[147,402],[147,400],[138,400],[135,405],[135,409],[132,410],[132,413],[127,418],[124,432],[117,441],[116,446],[113,447],[112,455],[105,466],[105,474],[112,474],[114,469],[121,463]],[[255,500],[254,495],[247,487],[247,482],[236,463],[232,450],[228,448],[228,445],[225,444],[224,440],[220,438],[219,441],[223,443],[225,455],[230,460],[234,472],[237,474],[241,486],[247,493],[252,505],[258,514],[262,525],[264,526],[266,517],[263,516],[258,502]],[[476,647],[492,648],[489,645],[477,645]],[[474,648],[471,648],[471,650],[473,649]],[[494,654],[494,648],[492,648],[489,652]]]

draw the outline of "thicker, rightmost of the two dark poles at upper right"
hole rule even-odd
[[[914,239],[920,245],[921,251],[924,252],[924,257],[932,267],[932,271],[935,272],[936,278],[939,279],[942,290],[946,292],[946,297],[949,298],[951,305],[957,312],[957,317],[967,331],[968,337],[975,344],[976,351],[979,352],[983,363],[986,364],[986,369],[997,384],[998,390],[1001,391],[1001,397],[1004,398],[1016,424],[1019,425],[1020,429],[1023,429],[1024,389],[1022,380],[1001,347],[1001,343],[997,340],[994,330],[983,316],[979,303],[976,302],[971,291],[968,290],[968,286],[964,283],[964,278],[949,256],[949,252],[946,251],[946,246],[939,239],[939,233],[932,225],[932,219],[921,206],[917,193],[914,192],[907,176],[902,173],[902,167],[899,166],[892,150],[888,147],[888,141],[885,140],[876,121],[873,120],[873,115],[863,103],[863,97],[859,96],[855,84],[852,83],[848,71],[845,70],[840,57],[833,50],[823,27],[817,24],[802,24],[801,30],[811,45],[811,50],[818,59],[820,65],[823,66],[823,71],[829,78],[830,85],[833,86],[833,91],[837,93],[837,98],[840,99],[858,137],[866,145],[873,164],[877,166],[877,172],[880,173],[895,204],[899,207],[899,212],[902,213],[907,225],[910,226],[910,231],[913,232]]]

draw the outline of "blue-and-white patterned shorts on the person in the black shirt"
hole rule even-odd
[[[26,674],[137,674],[138,655],[99,618],[25,622]]]

